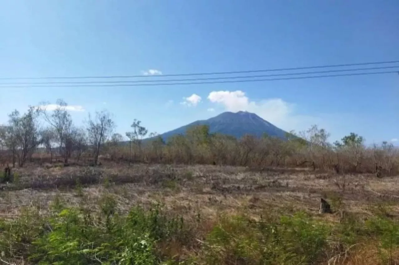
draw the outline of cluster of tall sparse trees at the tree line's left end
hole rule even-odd
[[[13,167],[22,167],[38,148],[45,148],[50,154],[58,154],[65,163],[71,157],[77,161],[85,152],[93,154],[94,163],[98,163],[100,150],[115,129],[115,122],[108,111],[89,114],[85,127],[73,124],[66,109],[67,103],[57,100],[57,107],[47,111],[45,107],[29,107],[21,114],[14,110],[9,114],[7,125],[0,126],[0,150],[2,160],[12,162]],[[41,125],[40,121],[45,121]]]

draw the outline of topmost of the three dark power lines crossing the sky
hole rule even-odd
[[[342,66],[358,66],[358,65],[367,65],[367,64],[389,64],[396,63],[396,61],[385,61],[385,62],[363,62],[356,64],[332,64],[332,65],[321,65],[321,66],[306,66],[306,67],[295,67],[295,68],[280,68],[280,69],[266,69],[266,70],[248,70],[248,71],[232,71],[232,72],[208,72],[208,73],[190,73],[190,74],[164,74],[164,75],[134,75],[134,76],[69,76],[69,77],[9,77],[9,78],[0,78],[0,80],[28,80],[28,79],[85,79],[85,78],[155,78],[155,77],[164,77],[164,76],[199,76],[199,75],[213,75],[213,74],[243,74],[243,73],[254,73],[254,72],[271,72],[271,71],[288,71],[288,70],[304,70],[311,68],[328,68],[328,67],[342,67]]]

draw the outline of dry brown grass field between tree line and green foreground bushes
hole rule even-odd
[[[337,175],[303,168],[146,164],[133,164],[130,167],[125,165],[63,167],[62,164],[58,166],[55,164],[47,167],[26,166],[16,169],[14,181],[1,185],[0,218],[5,224],[17,222],[16,220],[24,216],[26,218],[26,215],[40,216],[37,218],[52,216],[54,201],[63,207],[87,209],[99,213],[104,208],[104,198],[112,198],[115,208],[113,216],[117,213],[120,216],[127,216],[131,209],[137,206],[148,210],[154,205],[160,205],[165,216],[182,218],[184,226],[189,231],[185,240],[156,241],[158,259],[162,257],[164,261],[170,262],[164,264],[360,265],[399,262],[399,242],[391,242],[391,245],[385,246],[386,238],[383,238],[387,236],[384,233],[394,234],[399,231],[396,220],[399,216],[398,177],[376,178],[374,174]],[[319,214],[320,198],[330,203],[332,213]],[[302,215],[298,217],[298,212],[306,217]],[[309,222],[323,224],[329,227],[329,232],[323,244],[315,245],[321,251],[312,250],[317,255],[313,255],[313,252],[302,255],[298,250],[276,247],[281,253],[278,254],[279,257],[272,258],[269,262],[257,255],[264,251],[259,245],[264,244],[263,247],[267,247],[271,243],[259,241],[256,246],[249,244],[251,240],[259,239],[255,236],[259,231],[241,222],[239,224],[243,226],[242,231],[241,228],[235,227],[238,224],[231,220],[236,220],[234,218],[237,216],[245,218],[249,223],[269,222],[287,227],[287,224],[283,226],[281,220],[278,220],[281,216],[285,216],[292,220],[304,220],[304,224],[310,224]],[[373,218],[379,218],[378,222],[388,222],[388,224],[381,224],[379,228],[375,228],[375,224],[367,226],[367,222]],[[5,224],[4,227],[7,226]],[[380,231],[385,229],[385,226],[388,232],[369,231],[371,227]],[[221,228],[233,237],[226,242],[217,238],[216,228]],[[237,232],[236,229],[241,232]],[[294,227],[293,231],[306,230],[301,229],[304,228],[298,226]],[[232,243],[235,236],[245,236],[246,232],[248,232],[247,238],[236,238],[236,244]],[[350,235],[352,238],[348,242],[340,238],[346,232],[352,233]],[[393,240],[397,240],[399,234],[394,236]],[[306,235],[299,235],[296,240],[302,240],[301,237]],[[6,236],[3,240],[5,238]],[[7,240],[10,241],[10,238]],[[33,243],[28,242],[29,240],[17,242],[18,238],[14,240],[16,242],[4,241],[0,246],[3,248],[2,260],[9,264],[34,264],[35,259],[30,259],[28,253],[24,253],[31,251],[30,247],[23,248],[22,251],[18,246],[18,244]],[[308,240],[312,241],[312,238]],[[6,246],[7,244],[9,245]],[[5,253],[4,249],[7,247],[15,249]],[[287,253],[300,257],[282,258],[282,255]],[[43,264],[51,264],[50,261],[47,262]],[[81,264],[152,263],[93,261]]]

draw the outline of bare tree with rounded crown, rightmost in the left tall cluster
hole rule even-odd
[[[115,123],[109,112],[96,112],[95,117],[89,115],[87,124],[88,139],[94,148],[94,164],[97,165],[101,145],[109,138],[115,129]]]

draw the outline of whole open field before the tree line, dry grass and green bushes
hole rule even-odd
[[[13,173],[0,192],[4,263],[399,262],[395,176],[62,163]],[[320,198],[332,213],[319,214]]]

